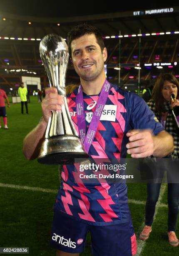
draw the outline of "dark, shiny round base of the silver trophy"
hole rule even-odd
[[[54,136],[42,143],[37,161],[40,164],[74,164],[77,158],[89,158],[76,136]]]

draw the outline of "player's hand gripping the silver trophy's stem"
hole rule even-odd
[[[57,95],[57,89],[55,87],[47,88],[45,90],[45,99],[42,100],[42,113],[43,119],[46,123],[52,114],[52,110],[60,111],[62,110],[61,105],[64,104],[63,97]]]

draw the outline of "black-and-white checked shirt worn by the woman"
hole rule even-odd
[[[154,112],[158,120],[161,122],[161,116],[159,115],[158,112],[155,111],[154,100],[149,100],[147,102],[147,105]],[[171,113],[171,109],[169,108],[169,105],[165,104],[165,106],[166,106],[166,110],[168,111],[168,114],[167,114],[167,120],[164,128],[174,138],[174,151],[172,152],[172,154],[169,155],[169,157],[173,159],[178,159],[179,158],[179,132],[177,133],[177,129],[176,129],[174,120],[172,118],[172,113]]]

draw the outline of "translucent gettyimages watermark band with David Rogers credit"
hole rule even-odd
[[[74,182],[179,183],[179,159],[75,159]]]

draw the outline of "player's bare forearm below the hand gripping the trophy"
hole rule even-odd
[[[23,153],[28,160],[33,160],[39,155],[46,128],[47,123],[42,119],[25,137],[23,141]]]

